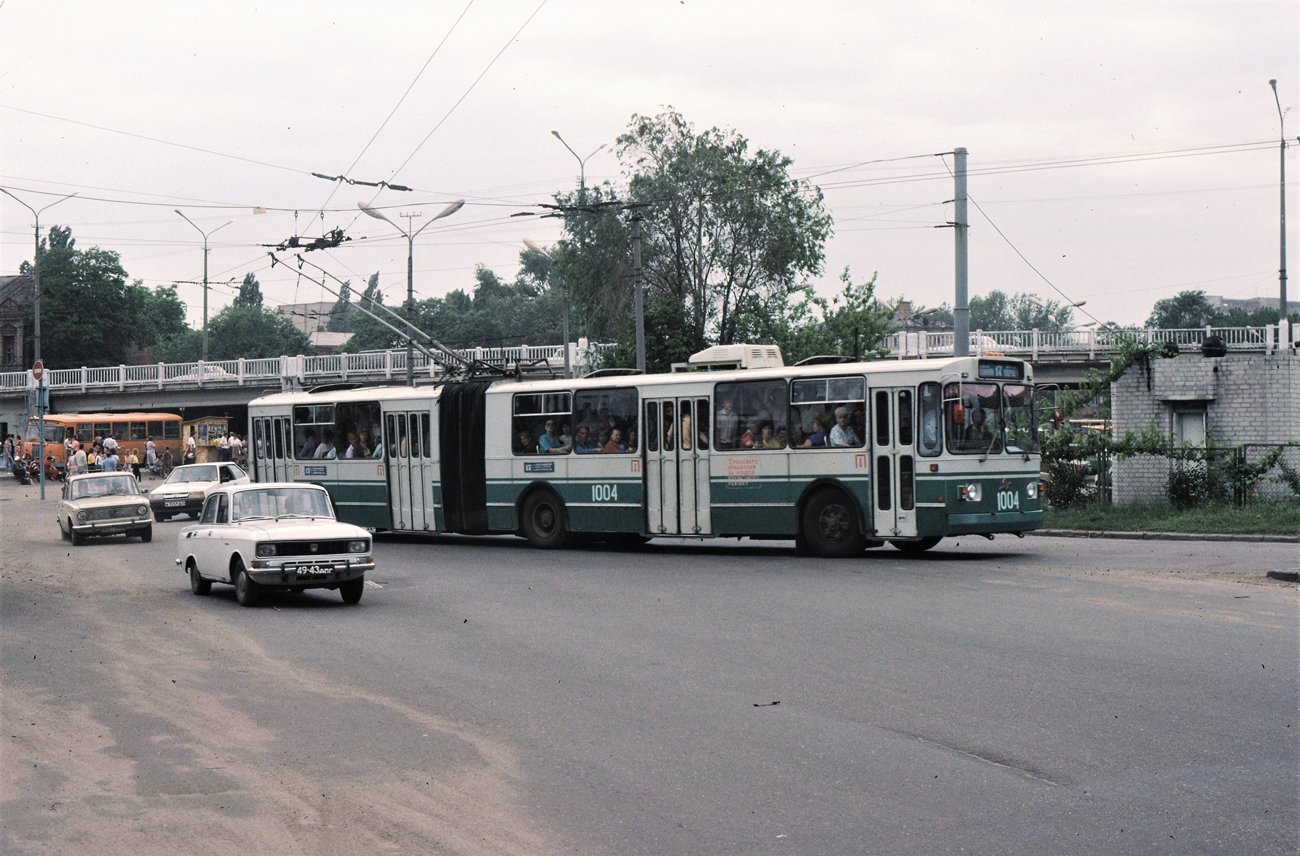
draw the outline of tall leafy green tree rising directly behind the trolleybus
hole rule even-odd
[[[641,219],[646,329],[654,330],[647,366],[667,368],[706,345],[737,342],[762,319],[779,325],[792,295],[820,272],[831,234],[820,191],[789,176],[790,159],[751,152],[734,131],[697,133],[671,109],[633,116],[618,154],[632,216]],[[616,320],[619,340],[632,341],[627,224],[606,213],[603,189],[558,199],[578,203],[566,208],[556,264],[577,315],[601,332]],[[597,234],[607,241],[598,246]]]

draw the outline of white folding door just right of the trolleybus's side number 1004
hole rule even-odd
[[[646,535],[710,535],[708,399],[645,402]]]

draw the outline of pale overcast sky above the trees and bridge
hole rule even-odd
[[[511,280],[525,238],[560,233],[510,215],[578,181],[550,131],[586,157],[671,105],[822,186],[824,293],[848,267],[879,272],[884,298],[952,303],[953,233],[936,226],[953,219],[942,154],[965,147],[971,297],[1140,324],[1183,290],[1277,301],[1269,79],[1300,103],[1297,46],[1296,0],[3,0],[0,186],[34,208],[77,193],[42,228],[118,252],[148,286],[202,280],[203,239],[174,208],[220,228],[211,315],[247,272],[268,304],[333,299],[263,247],[333,228],[352,241],[306,258],[358,289],[378,271],[394,304],[407,242],[358,202],[404,225],[467,200],[417,238],[417,298],[472,290],[478,264]],[[1300,114],[1286,129],[1296,258]],[[621,186],[610,150],[586,181]],[[0,196],[0,273],[31,259],[32,225]],[[202,286],[179,294],[198,323]]]

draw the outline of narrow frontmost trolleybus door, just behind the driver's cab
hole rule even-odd
[[[871,392],[871,454],[876,535],[916,535],[915,390]]]

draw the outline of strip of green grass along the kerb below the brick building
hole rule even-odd
[[[1048,509],[1046,528],[1093,532],[1216,532],[1223,535],[1300,535],[1300,501],[1256,502],[1238,509],[1205,505],[1179,511],[1158,502],[1087,502]]]

